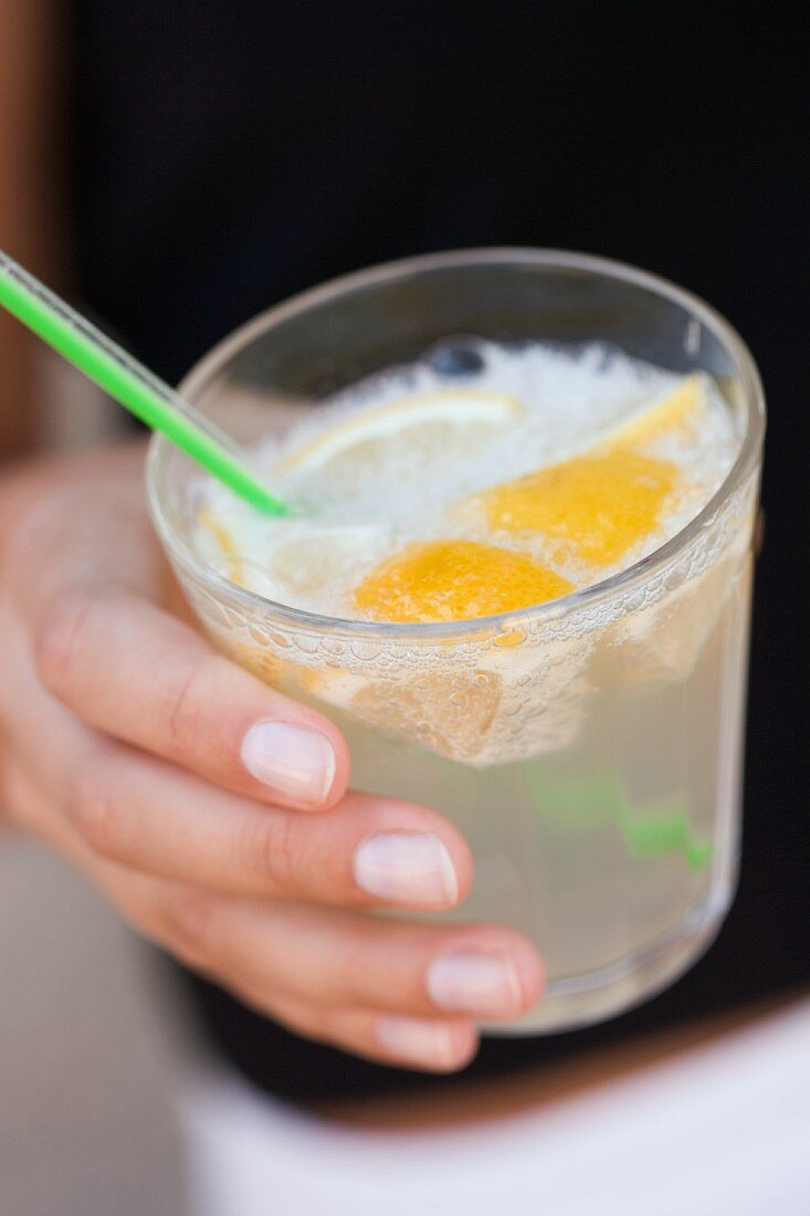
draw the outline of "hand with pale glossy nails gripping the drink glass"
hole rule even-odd
[[[451,1070],[538,998],[511,930],[448,908],[472,862],[434,811],[347,793],[337,728],[161,607],[141,454],[0,486],[0,809],[145,936],[299,1034]]]

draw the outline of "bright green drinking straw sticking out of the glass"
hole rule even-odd
[[[141,422],[249,502],[257,511],[288,516],[252,471],[248,454],[69,304],[0,250],[0,305],[58,351],[69,364],[125,406]]]

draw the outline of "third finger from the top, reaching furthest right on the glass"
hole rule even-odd
[[[179,948],[230,983],[330,1008],[508,1019],[525,1013],[542,987],[530,942],[490,925],[409,924],[198,891],[170,901],[164,923]]]

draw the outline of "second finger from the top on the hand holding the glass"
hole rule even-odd
[[[472,878],[460,833],[396,799],[349,793],[332,815],[297,815],[112,742],[77,759],[66,795],[96,852],[224,894],[444,908]]]

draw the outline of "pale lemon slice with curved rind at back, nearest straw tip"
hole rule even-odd
[[[519,401],[497,393],[454,389],[409,396],[336,422],[276,467],[297,478],[327,472],[350,477],[373,468],[390,445],[400,454],[406,445],[420,457],[465,457],[522,412]]]

